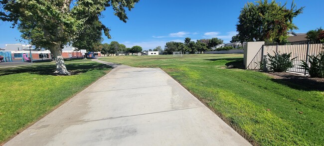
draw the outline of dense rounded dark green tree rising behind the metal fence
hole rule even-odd
[[[239,40],[282,42],[287,39],[288,30],[298,29],[293,18],[303,12],[304,7],[296,8],[294,1],[288,9],[272,0],[248,2],[241,10],[236,29]]]

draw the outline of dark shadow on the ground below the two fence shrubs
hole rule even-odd
[[[285,76],[284,78],[271,80],[297,90],[324,91],[323,79],[316,80],[308,77]]]

